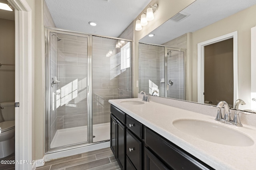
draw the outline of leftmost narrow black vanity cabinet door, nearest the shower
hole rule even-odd
[[[110,115],[110,149],[116,158],[116,118]]]

